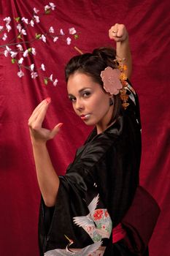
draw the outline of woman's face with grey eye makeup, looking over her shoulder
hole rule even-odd
[[[98,133],[104,131],[113,111],[113,106],[109,105],[109,94],[90,76],[80,72],[69,76],[67,91],[74,111],[82,121],[96,125]]]

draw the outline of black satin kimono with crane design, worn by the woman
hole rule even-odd
[[[136,255],[124,239],[112,243],[112,229],[122,221],[139,184],[139,103],[128,88],[128,108],[101,134],[94,129],[66,175],[59,177],[55,207],[47,208],[42,200],[40,255]]]

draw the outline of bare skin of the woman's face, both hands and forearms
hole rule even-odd
[[[125,64],[128,66],[128,78],[131,75],[131,52],[128,44],[128,32],[123,24],[115,24],[109,29],[109,38],[115,40],[117,57],[125,59]],[[80,94],[82,86],[80,81],[87,90],[90,87],[90,94]],[[74,86],[76,89],[74,89]],[[102,92],[101,92],[102,91]],[[81,91],[82,92],[82,91]],[[111,118],[113,106],[109,106],[109,94],[106,94],[101,86],[93,83],[91,78],[85,74],[76,72],[69,77],[68,81],[69,98],[72,96],[72,105],[74,111],[81,116],[82,114],[90,113],[85,124],[96,125],[98,133],[103,132],[107,128],[108,121]],[[72,94],[72,95],[71,95]],[[84,95],[84,96],[82,96]],[[85,96],[86,95],[86,96]],[[99,113],[96,110],[96,104],[100,99],[100,109],[104,109]],[[75,100],[75,101],[74,101]],[[42,127],[42,122],[46,116],[47,108],[50,105],[50,99],[44,99],[34,110],[28,120],[28,127],[31,135],[31,143],[33,147],[34,160],[36,165],[36,176],[39,184],[39,189],[45,201],[45,205],[55,206],[58,187],[60,180],[50,160],[50,155],[47,151],[47,140],[51,140],[58,134],[62,124],[57,124],[53,129],[45,129]]]

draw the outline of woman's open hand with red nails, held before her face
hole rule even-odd
[[[44,99],[33,111],[28,119],[28,126],[32,142],[46,143],[47,140],[53,139],[59,132],[62,123],[57,124],[52,130],[42,127],[42,122],[45,119],[47,108],[50,105],[50,98]]]

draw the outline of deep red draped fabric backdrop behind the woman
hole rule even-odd
[[[158,200],[161,216],[150,241],[150,256],[169,256],[169,0],[157,1],[55,1],[56,10],[43,16],[41,22],[26,37],[35,32],[45,33],[50,26],[67,31],[74,26],[80,38],[66,45],[62,39],[53,43],[33,42],[36,67],[45,63],[47,75],[58,78],[58,86],[45,86],[42,78],[31,79],[28,71],[18,78],[18,67],[10,58],[0,54],[0,254],[4,256],[37,256],[37,222],[39,188],[28,134],[28,117],[35,106],[46,97],[52,98],[45,125],[53,127],[63,122],[55,140],[48,143],[54,166],[64,173],[74,152],[85,140],[89,128],[74,116],[67,100],[64,65],[77,52],[76,45],[87,52],[93,48],[112,45],[107,31],[114,23],[124,23],[130,34],[134,60],[132,82],[138,91],[142,116],[141,184]],[[47,1],[0,1],[2,19],[26,17],[31,19],[36,7],[43,10]],[[12,26],[15,22],[12,20]],[[10,34],[16,35],[15,29]],[[0,51],[2,51],[0,49]]]

